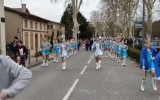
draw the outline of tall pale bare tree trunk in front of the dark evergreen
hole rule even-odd
[[[51,0],[51,1],[60,1],[60,0]],[[71,2],[72,5],[72,9],[73,9],[73,14],[72,14],[72,18],[73,18],[73,36],[77,39],[77,33],[79,32],[79,23],[77,21],[77,14],[80,10],[80,7],[83,3],[83,0],[63,0],[65,3],[67,2]]]

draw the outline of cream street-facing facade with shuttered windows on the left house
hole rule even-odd
[[[27,28],[25,27],[25,20],[27,20]],[[33,28],[30,27],[30,21],[33,23]],[[35,28],[36,22],[37,29]],[[40,23],[42,25],[42,29],[40,29]],[[45,35],[47,35],[47,23],[38,22],[31,19],[23,19],[23,42],[25,46],[30,49],[31,56],[35,55],[36,49],[38,49],[38,51],[41,50],[41,43]]]

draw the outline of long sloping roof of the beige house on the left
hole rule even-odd
[[[27,8],[26,8],[26,13],[22,11],[22,8],[10,8],[10,7],[5,6],[4,9],[7,10],[7,11],[10,11],[10,12],[14,12],[16,14],[19,14],[20,16],[22,16],[24,18],[39,20],[39,21],[43,21],[43,22],[46,22],[46,23],[56,23],[56,24],[65,26],[64,24],[61,24],[59,22],[51,21],[51,20],[39,17],[37,15],[31,14]]]

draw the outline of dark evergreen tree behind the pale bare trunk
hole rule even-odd
[[[61,23],[66,26],[65,33],[67,39],[72,38],[72,28],[73,28],[72,13],[73,13],[72,5],[69,4],[61,18]],[[79,23],[79,30],[80,30],[79,37],[91,38],[94,34],[94,27],[89,22],[87,22],[87,19],[80,12],[77,14],[77,21]]]

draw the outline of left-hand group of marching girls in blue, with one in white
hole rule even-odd
[[[76,39],[71,39],[66,41],[65,39],[62,40],[61,43],[58,42],[57,39],[53,40],[53,46],[44,39],[42,43],[42,54],[43,54],[43,67],[48,66],[48,57],[49,57],[49,50],[51,47],[53,54],[54,54],[54,63],[58,62],[58,60],[62,59],[62,69],[66,69],[66,59],[69,56],[75,55],[77,53],[78,42]]]

